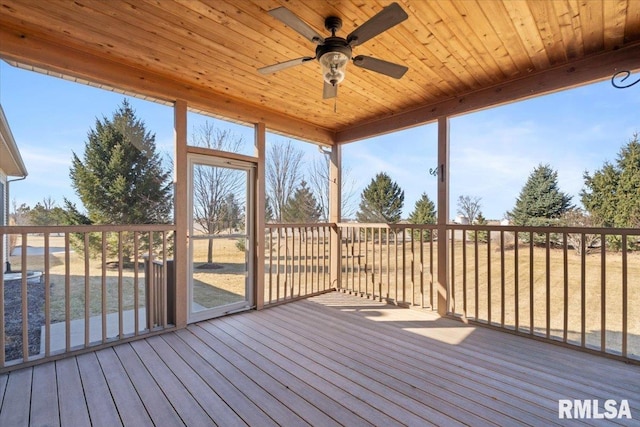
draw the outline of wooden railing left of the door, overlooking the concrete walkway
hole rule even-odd
[[[0,227],[0,260],[11,266],[0,269],[0,371],[170,327],[174,230]]]

